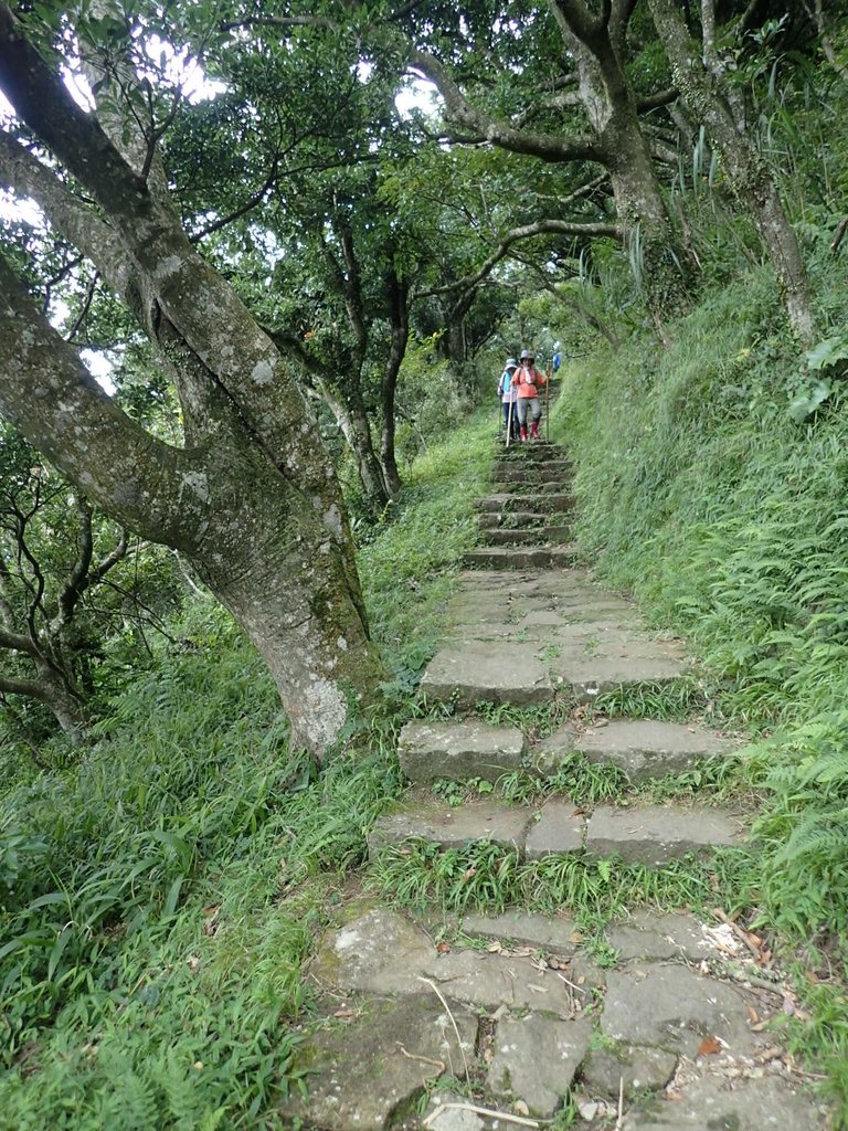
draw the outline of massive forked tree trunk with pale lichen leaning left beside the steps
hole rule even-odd
[[[0,79],[101,214],[6,138],[0,173],[88,254],[168,360],[188,447],[136,425],[0,260],[0,412],[106,513],[181,550],[274,673],[293,741],[323,753],[379,697],[332,464],[283,359],[228,284],[0,3]]]

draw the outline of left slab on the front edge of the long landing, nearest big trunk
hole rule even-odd
[[[473,706],[490,702],[543,703],[553,693],[551,677],[530,646],[442,648],[427,665],[421,690],[431,699]]]

